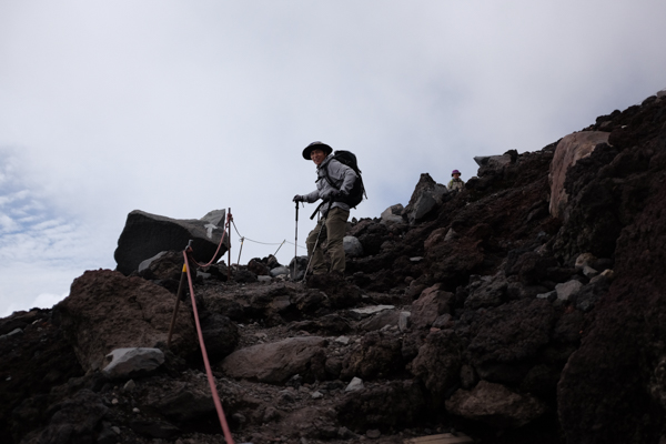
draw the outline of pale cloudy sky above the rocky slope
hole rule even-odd
[[[664,17],[663,0],[0,0],[0,316],[114,269],[133,210],[231,208],[240,263],[289,263],[312,141],[357,155],[357,219],[406,205],[421,173],[541,150],[666,88]]]

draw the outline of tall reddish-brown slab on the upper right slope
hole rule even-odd
[[[609,133],[602,131],[582,131],[565,135],[557,143],[548,174],[551,183],[549,210],[553,218],[567,218],[568,195],[564,189],[564,181],[568,169],[581,159],[592,154],[597,144],[607,143],[608,135]]]

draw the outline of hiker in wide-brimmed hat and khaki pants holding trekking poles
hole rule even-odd
[[[322,142],[312,142],[305,147],[303,159],[312,160],[316,165],[316,190],[304,195],[296,194],[293,201],[313,203],[323,200],[323,204],[320,205],[321,218],[305,241],[307,255],[312,261],[313,274],[326,273],[322,243],[327,241],[326,251],[331,256],[330,271],[342,275],[345,266],[342,240],[350,216],[350,205],[344,202],[344,199],[352,191],[357,175],[352,168],[329,157],[332,152],[333,149]]]

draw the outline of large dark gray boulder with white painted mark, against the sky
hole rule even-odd
[[[192,240],[192,258],[208,263],[224,232],[226,211],[214,210],[201,219],[171,219],[134,210],[128,214],[125,226],[118,239],[113,256],[117,270],[128,275],[139,269],[141,262],[163,251],[182,251]],[[214,258],[218,261],[229,249],[229,236]]]

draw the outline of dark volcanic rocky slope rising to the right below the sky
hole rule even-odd
[[[666,440],[666,98],[477,161],[460,193],[423,174],[406,208],[350,223],[344,279],[199,271],[236,443]],[[88,271],[0,320],[3,442],[223,443],[189,297],[167,345],[182,265]],[[110,371],[125,347],[161,357]]]

